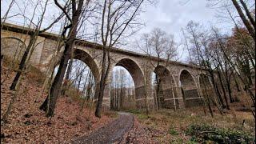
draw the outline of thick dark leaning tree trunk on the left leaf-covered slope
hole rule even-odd
[[[66,45],[64,48],[64,52],[62,54],[58,72],[50,88],[50,94],[46,98],[46,102],[44,102],[43,105],[41,106],[42,110],[45,110],[45,111],[47,110],[46,117],[52,117],[54,115],[54,109],[58,99],[59,90],[62,86],[62,80],[64,78],[64,74],[66,71],[67,62],[70,59],[70,54],[74,46],[74,40],[78,33],[79,18],[81,18],[82,11],[85,10],[89,2],[90,1],[86,1],[84,5],[83,0],[79,0],[78,2],[71,1],[72,14],[70,16],[70,14],[67,13],[67,10],[66,10],[67,7],[61,6],[58,3],[58,0],[54,0],[55,5],[58,6],[58,8],[61,9],[62,12],[66,15],[66,18],[69,19],[70,24],[65,27],[65,30],[70,29],[70,31],[66,38]],[[48,103],[48,106],[47,106],[47,103]]]

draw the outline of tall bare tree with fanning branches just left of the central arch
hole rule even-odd
[[[120,38],[138,26],[136,18],[140,12],[140,7],[144,0],[139,1],[115,1],[104,0],[101,6],[102,21],[101,38],[102,38],[102,67],[99,82],[99,92],[97,93],[97,106],[95,116],[101,118],[102,99],[104,97],[104,90],[106,86],[106,78],[110,71],[110,50],[119,42]]]

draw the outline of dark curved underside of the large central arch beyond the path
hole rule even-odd
[[[144,84],[144,74],[140,66],[130,58],[122,58],[114,66],[122,66],[129,71],[134,80],[136,105],[138,108],[144,107],[146,86]]]

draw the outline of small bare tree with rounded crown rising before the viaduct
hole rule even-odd
[[[140,44],[142,43],[142,44]],[[150,34],[143,34],[141,38],[141,42],[138,43],[138,47],[140,50],[142,50],[146,54],[146,71],[148,72],[150,67],[153,67],[154,70],[160,66],[160,62],[162,62],[162,58],[165,58],[165,66],[169,66],[170,60],[174,60],[174,58],[177,56],[177,46],[175,45],[174,38],[172,35],[166,34],[165,31],[154,28],[154,30],[151,31]],[[157,57],[157,64],[154,65],[153,59],[150,57],[156,56]],[[174,60],[175,61],[175,60]],[[153,70],[153,71],[154,71]],[[164,75],[164,74],[162,74]],[[148,75],[146,77],[149,77]],[[159,75],[156,74],[156,96],[155,98],[157,100],[157,109],[159,110],[160,106],[160,98],[159,92],[161,87],[161,79],[158,78]],[[147,80],[146,80],[147,82]],[[173,86],[172,86],[173,87]],[[148,87],[149,88],[149,87]],[[174,94],[173,94],[174,97]],[[174,100],[175,101],[175,100]],[[174,102],[175,103],[175,102]],[[176,106],[176,105],[175,105]],[[176,109],[174,107],[174,109]]]

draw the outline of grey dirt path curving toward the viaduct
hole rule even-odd
[[[114,143],[120,142],[122,136],[130,130],[134,124],[134,116],[127,113],[118,113],[118,119],[110,124],[94,131],[89,135],[82,136],[72,143]]]

